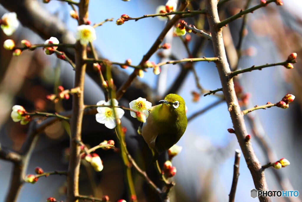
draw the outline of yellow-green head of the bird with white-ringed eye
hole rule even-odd
[[[176,114],[185,114],[185,101],[177,94],[168,94],[164,100],[159,101],[163,106],[169,108],[171,112]]]

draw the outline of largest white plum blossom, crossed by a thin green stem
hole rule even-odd
[[[113,100],[113,105],[118,106],[117,100],[116,99],[112,99],[112,100]],[[97,105],[111,106],[111,99],[108,102],[104,100],[99,101]],[[114,108],[114,109],[115,109],[116,118],[122,118],[125,113],[124,110],[122,110],[121,108]],[[116,121],[115,121],[113,109],[110,107],[98,107],[97,110],[98,113],[95,115],[96,121],[101,124],[105,124],[105,126],[108,127],[109,129],[115,128]]]

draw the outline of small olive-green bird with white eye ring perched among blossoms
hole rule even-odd
[[[168,94],[162,104],[150,109],[142,128],[142,136],[150,147],[154,163],[159,154],[171,148],[187,128],[185,101],[177,94]]]

